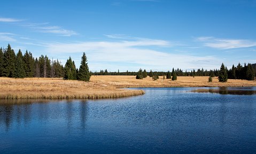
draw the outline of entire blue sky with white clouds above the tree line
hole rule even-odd
[[[5,1],[0,46],[92,72],[256,63],[255,0]]]

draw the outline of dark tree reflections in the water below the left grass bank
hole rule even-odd
[[[86,127],[86,100],[1,100],[0,101],[0,129],[6,132],[13,127],[26,127],[32,121],[38,123],[53,123],[63,119],[67,129],[73,129],[73,121],[81,123],[81,130]]]

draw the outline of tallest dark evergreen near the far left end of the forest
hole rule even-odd
[[[3,57],[3,72],[2,75],[6,77],[14,77],[16,55],[11,45],[8,44],[4,51]]]

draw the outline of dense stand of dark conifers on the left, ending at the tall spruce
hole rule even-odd
[[[67,59],[65,66],[60,61],[49,59],[41,55],[34,58],[32,53],[26,50],[23,55],[19,49],[15,54],[11,45],[7,48],[0,48],[0,77],[9,78],[64,78],[67,80],[90,80],[90,72],[86,54],[83,53],[81,65],[76,69],[71,57]]]

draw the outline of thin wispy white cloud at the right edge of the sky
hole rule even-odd
[[[256,46],[256,41],[247,39],[219,39],[214,37],[198,37],[197,41],[203,42],[204,46],[217,49],[247,48]]]

